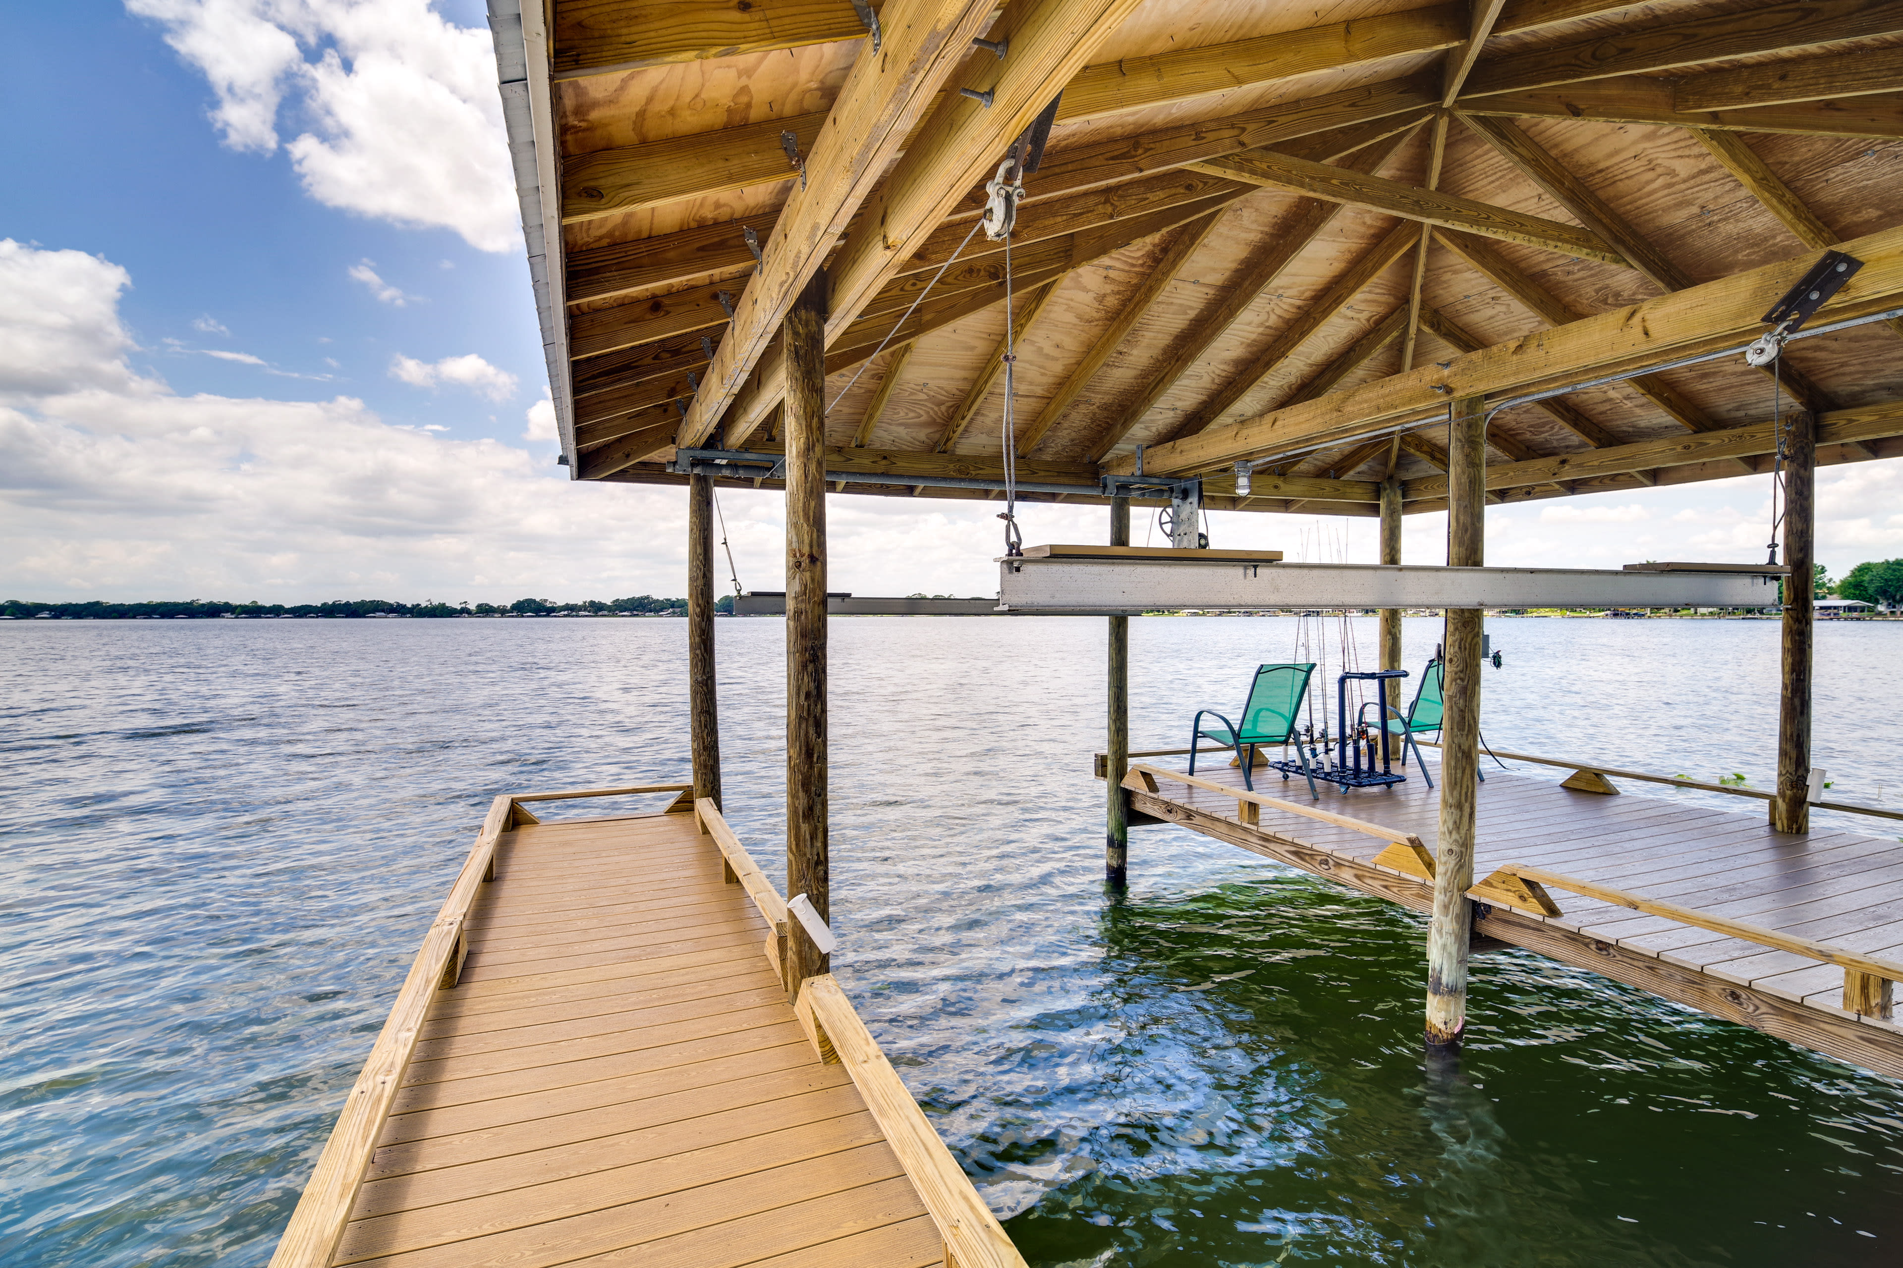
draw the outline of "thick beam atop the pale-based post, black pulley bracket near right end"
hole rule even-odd
[[[1874,316],[1903,300],[1903,230],[1869,234],[1846,251],[1863,260],[1812,325]],[[1644,373],[1688,355],[1739,348],[1764,327],[1760,317],[1815,262],[1810,253],[1730,278],[1675,291],[1642,304],[1585,317],[1551,331],[1425,365],[1404,375],[1336,392],[1254,418],[1210,428],[1149,449],[1146,470],[1157,475],[1207,471],[1241,458],[1262,458],[1355,439],[1444,409],[1448,395],[1494,399],[1608,375]],[[1117,468],[1125,466],[1119,458]]]

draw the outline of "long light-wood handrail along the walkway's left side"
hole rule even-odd
[[[350,1099],[344,1101],[343,1114],[331,1129],[331,1139],[318,1156],[318,1165],[310,1173],[304,1196],[291,1211],[278,1239],[278,1251],[270,1257],[270,1268],[329,1268],[337,1241],[344,1236],[350,1220],[350,1207],[356,1205],[358,1186],[363,1171],[377,1152],[377,1137],[383,1135],[383,1122],[390,1114],[390,1105],[403,1082],[403,1066],[422,1034],[422,1017],[430,1009],[430,1000],[440,989],[455,985],[455,970],[461,970],[464,949],[462,922],[470,905],[481,890],[481,882],[493,876],[491,863],[495,846],[508,831],[510,816],[516,810],[514,797],[497,797],[489,804],[489,817],[483,819],[481,835],[462,863],[462,873],[449,888],[436,922],[422,937],[409,977],[396,992],[390,1019],[383,1023],[377,1044],[369,1049],[369,1061],[358,1074]]]

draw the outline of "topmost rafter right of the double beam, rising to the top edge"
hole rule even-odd
[[[1488,0],[1498,4],[1500,0]],[[1334,70],[1383,57],[1406,57],[1454,48],[1467,36],[1465,6],[1437,4],[1283,30],[1254,40],[1125,57],[1085,67],[1064,87],[1058,122],[1071,124],[1117,110],[1227,93],[1250,84]]]

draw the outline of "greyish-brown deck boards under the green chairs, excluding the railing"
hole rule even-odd
[[[1161,762],[1153,764],[1161,768]],[[1237,766],[1199,764],[1197,774],[1229,787],[1243,785]],[[1429,774],[1439,783],[1439,760],[1429,760]],[[1429,852],[1435,846],[1441,798],[1437,789],[1425,787],[1418,768],[1406,783],[1387,789],[1344,793],[1317,783],[1319,800],[1309,798],[1304,779],[1285,783],[1277,776],[1273,770],[1258,772],[1256,791],[1353,816],[1389,829],[1395,838],[1412,833]],[[1172,783],[1167,776],[1157,779],[1161,802],[1245,827],[1235,798]],[[1646,797],[1629,785],[1616,797],[1579,793],[1553,779],[1494,768],[1477,795],[1475,878],[1507,863],[1543,867],[1779,933],[1865,954],[1903,956],[1903,846],[1895,838],[1836,829],[1775,833],[1764,821],[1762,806],[1745,804],[1749,810],[1726,812]],[[1264,852],[1300,846],[1363,865],[1370,865],[1387,844],[1273,806],[1262,808],[1258,831],[1273,836]],[[1326,871],[1324,861],[1311,871]],[[1387,874],[1383,888],[1416,911],[1431,895],[1431,884],[1399,874]],[[1838,1030],[1846,1021],[1869,1027],[1874,1042],[1884,1051],[1893,1049],[1895,1065],[1903,1066],[1903,1028],[1844,1013],[1844,971],[1836,966],[1562,890],[1555,890],[1553,897],[1560,916],[1526,920],[1574,935],[1572,945],[1618,947],[1673,966],[1680,979],[1692,983],[1690,989],[1699,981],[1720,990],[1749,987],[1815,1009]],[[1551,949],[1547,952],[1553,954]],[[1591,954],[1574,962],[1595,968]]]

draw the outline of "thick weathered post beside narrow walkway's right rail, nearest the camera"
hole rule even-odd
[[[832,924],[826,840],[826,274],[786,314],[786,897]],[[799,920],[786,994],[832,971]]]

